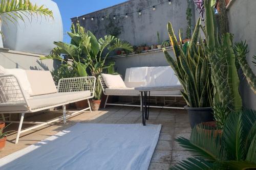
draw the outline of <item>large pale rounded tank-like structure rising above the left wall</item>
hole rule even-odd
[[[9,20],[3,22],[3,44],[11,50],[36,54],[49,54],[54,48],[53,41],[63,40],[62,20],[58,6],[50,0],[30,0],[38,6],[45,5],[53,11],[54,19],[45,16],[33,16],[32,20],[24,17],[25,23],[18,19],[15,25]],[[4,17],[3,17],[4,19]]]

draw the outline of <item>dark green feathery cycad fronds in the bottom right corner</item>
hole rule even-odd
[[[194,128],[190,139],[175,139],[191,157],[170,169],[256,169],[255,124],[256,111],[246,110],[229,114],[221,135],[205,133],[207,127],[198,125],[200,129]]]

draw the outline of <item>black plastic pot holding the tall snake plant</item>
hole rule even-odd
[[[214,121],[214,114],[211,107],[194,108],[185,106],[184,109],[187,110],[189,123],[192,129],[197,124]]]

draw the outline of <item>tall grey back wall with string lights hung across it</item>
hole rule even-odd
[[[106,35],[110,19],[105,18],[101,20],[102,16],[125,14],[127,12],[138,11],[153,5],[165,2],[165,0],[132,0],[125,3],[102,9],[90,14],[80,16],[79,23],[87,30],[92,31],[96,37],[102,37]],[[185,37],[187,20],[186,20],[187,1],[172,1],[172,5],[167,3],[156,6],[156,10],[152,8],[142,11],[142,15],[138,15],[138,12],[130,14],[128,18],[125,16],[116,16],[116,19],[112,19],[114,27],[120,28],[121,34],[118,36],[120,39],[126,40],[133,45],[141,44],[157,44],[157,31],[160,34],[160,41],[168,40],[168,34],[166,31],[166,25],[168,21],[171,21],[178,35],[178,30],[183,29],[183,36]],[[98,16],[91,20],[92,16]],[[83,17],[87,19],[82,20]],[[72,19],[76,23],[76,17]]]

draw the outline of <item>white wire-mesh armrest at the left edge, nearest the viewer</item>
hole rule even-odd
[[[27,97],[19,80],[14,75],[0,76],[0,105],[26,104]]]

